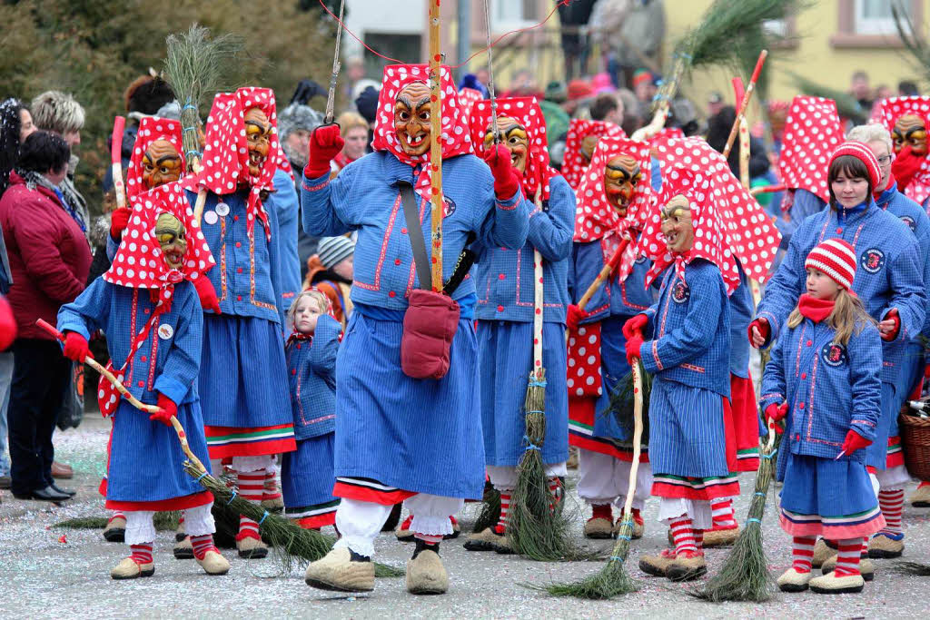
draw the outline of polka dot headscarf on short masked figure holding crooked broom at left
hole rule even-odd
[[[193,225],[193,210],[179,182],[145,191],[130,203],[129,225],[104,280],[130,288],[173,287],[181,280],[196,280],[216,264],[203,232]],[[155,238],[155,220],[162,213],[178,218],[187,231],[187,255],[181,270],[167,266]]]

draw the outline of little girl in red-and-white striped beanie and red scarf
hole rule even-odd
[[[786,420],[778,448],[779,521],[793,542],[791,567],[778,577],[784,592],[860,592],[863,536],[884,525],[864,450],[881,415],[882,339],[850,293],[856,263],[853,246],[842,239],[810,251],[807,292],[765,365],[765,416]],[[811,578],[818,534],[838,542],[839,560],[831,573]]]

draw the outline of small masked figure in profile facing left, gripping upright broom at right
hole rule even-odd
[[[714,190],[699,172],[663,169],[661,210],[640,244],[653,260],[646,284],[671,269],[658,303],[624,325],[628,363],[638,358],[654,376],[652,495],[661,498],[658,518],[671,527],[674,542],[658,556],[641,557],[640,568],[676,581],[706,573],[702,538],[711,528],[711,501],[739,492],[724,422],[730,407],[727,297],[739,274]],[[662,241],[667,247],[660,249]],[[645,340],[644,330],[653,337]]]

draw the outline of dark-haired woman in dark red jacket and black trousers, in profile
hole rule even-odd
[[[52,432],[71,363],[52,336],[35,325],[55,324],[58,311],[84,290],[90,247],[69,215],[58,185],[71,150],[58,134],[37,131],[20,147],[10,186],[0,199],[13,285],[9,303],[19,334],[13,343],[9,452],[13,495],[60,501],[73,495],[52,480]]]

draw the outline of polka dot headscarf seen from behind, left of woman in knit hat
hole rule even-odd
[[[843,125],[833,99],[795,97],[791,101],[778,155],[778,177],[790,190],[806,190],[830,202],[827,166],[843,142]]]

